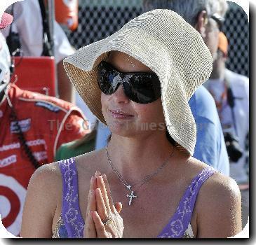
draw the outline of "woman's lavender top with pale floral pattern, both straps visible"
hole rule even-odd
[[[84,221],[79,208],[78,180],[74,158],[59,162],[62,174],[62,214],[53,232],[54,238],[81,238],[83,237]],[[191,216],[194,210],[196,197],[202,184],[217,170],[206,167],[196,175],[185,191],[175,214],[163,228],[158,238],[191,237]],[[193,237],[193,236],[192,236]]]

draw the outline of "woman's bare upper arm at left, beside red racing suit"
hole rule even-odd
[[[52,237],[53,216],[62,186],[55,164],[50,165],[37,169],[29,181],[20,237]]]

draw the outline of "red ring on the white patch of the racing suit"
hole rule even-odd
[[[5,186],[0,186],[0,196],[6,197],[11,203],[11,210],[9,211],[9,214],[2,219],[4,227],[8,228],[12,223],[14,223],[19,214],[20,200],[13,190]]]

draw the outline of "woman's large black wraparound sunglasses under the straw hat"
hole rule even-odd
[[[147,104],[161,97],[161,84],[155,73],[121,72],[108,62],[97,66],[97,82],[104,94],[113,94],[122,84],[126,96],[133,102]]]

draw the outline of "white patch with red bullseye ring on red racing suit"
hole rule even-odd
[[[27,190],[13,177],[0,174],[0,214],[4,227],[19,235]]]

